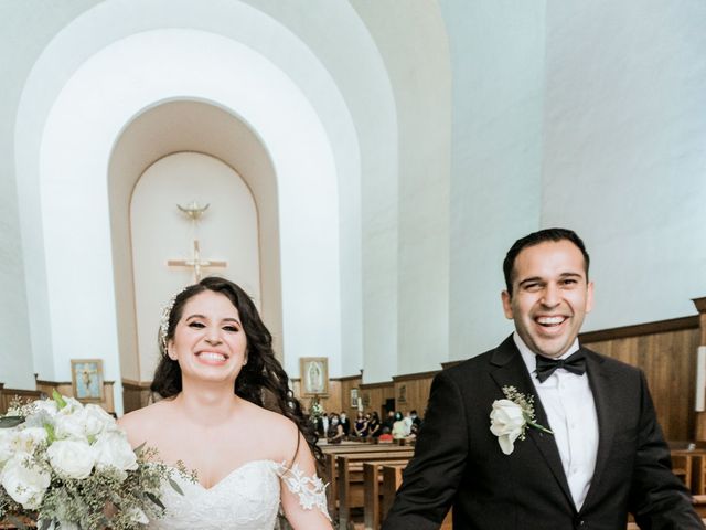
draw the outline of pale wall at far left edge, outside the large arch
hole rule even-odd
[[[49,351],[47,340],[32,340],[31,321],[41,319],[46,307],[28,307],[28,290],[44,284],[28,277],[28,269],[41,266],[41,256],[23,254],[14,134],[18,104],[35,59],[53,35],[76,13],[96,0],[77,0],[71,6],[26,6],[0,2],[0,382],[8,388],[34,389],[33,350]],[[18,9],[19,8],[19,9]],[[28,15],[28,13],[32,13]],[[25,283],[26,282],[26,283]]]

